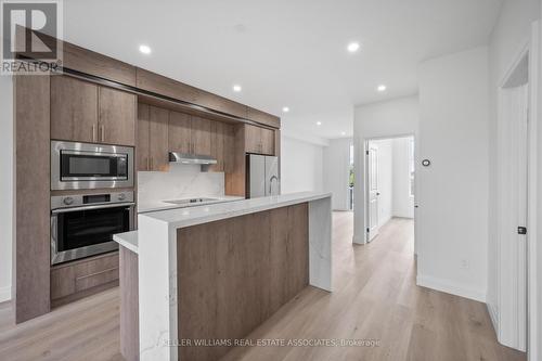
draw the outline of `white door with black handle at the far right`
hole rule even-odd
[[[528,86],[501,90],[499,121],[499,340],[527,344],[527,129]]]

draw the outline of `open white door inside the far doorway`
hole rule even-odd
[[[367,242],[378,235],[378,146],[369,143],[367,162]]]

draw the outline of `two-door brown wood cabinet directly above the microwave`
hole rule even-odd
[[[51,138],[136,145],[136,95],[65,76],[51,77]]]

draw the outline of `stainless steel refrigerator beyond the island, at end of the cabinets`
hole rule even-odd
[[[247,198],[281,194],[279,157],[247,154],[246,178]]]

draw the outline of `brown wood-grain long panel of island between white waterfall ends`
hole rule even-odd
[[[241,339],[309,284],[308,204],[177,232],[179,338]],[[181,347],[180,360],[230,349]]]

